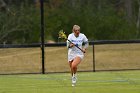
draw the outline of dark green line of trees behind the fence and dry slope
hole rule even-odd
[[[45,42],[78,24],[89,40],[140,38],[140,0],[44,0]],[[0,0],[0,43],[40,42],[39,0]]]

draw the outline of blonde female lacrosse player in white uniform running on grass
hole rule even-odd
[[[70,40],[71,42],[68,40]],[[72,86],[75,86],[77,80],[77,66],[81,63],[84,57],[84,53],[86,52],[86,48],[88,47],[88,39],[84,34],[80,33],[80,26],[74,25],[72,33],[68,36],[68,40],[68,62],[71,69]],[[84,46],[82,46],[83,43]],[[79,47],[81,50],[77,47]]]

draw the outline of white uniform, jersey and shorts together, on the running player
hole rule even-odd
[[[80,33],[78,37],[75,37],[74,33],[69,34],[68,40],[70,40],[75,45],[77,44],[79,48],[82,49],[82,44],[85,43],[84,47],[88,47],[88,39],[87,37]],[[70,42],[67,41],[67,47],[69,46]],[[72,61],[76,56],[79,56],[83,59],[84,54],[83,52],[78,49],[76,46],[68,48],[68,61]]]

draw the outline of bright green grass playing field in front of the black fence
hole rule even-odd
[[[140,93],[140,71],[0,75],[0,93]]]

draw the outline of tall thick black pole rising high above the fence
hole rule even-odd
[[[44,66],[44,0],[40,0],[40,16],[41,16],[41,51],[42,51],[42,74],[45,74]]]

